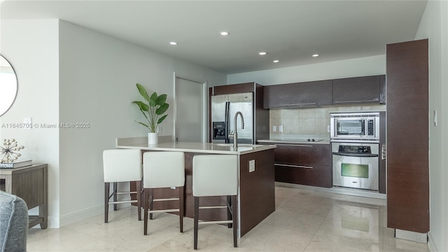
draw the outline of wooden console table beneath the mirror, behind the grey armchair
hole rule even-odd
[[[28,209],[39,207],[38,216],[29,216],[28,228],[38,224],[42,229],[48,226],[47,169],[47,164],[0,169],[1,190],[21,197]]]

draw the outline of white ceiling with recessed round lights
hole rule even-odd
[[[425,8],[395,0],[1,0],[0,18],[59,18],[230,74],[384,55],[386,44],[414,39]]]

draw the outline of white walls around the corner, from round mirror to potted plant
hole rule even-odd
[[[2,139],[15,137],[34,160],[49,163],[50,228],[103,213],[102,151],[115,148],[116,137],[146,136],[134,122],[142,119],[131,104],[141,99],[135,83],[168,94],[174,104],[174,72],[209,85],[226,81],[222,73],[62,20],[1,25],[1,52],[15,66],[20,89],[1,123],[32,117],[34,123],[90,124],[1,131]],[[173,108],[162,123],[166,135],[174,132]]]

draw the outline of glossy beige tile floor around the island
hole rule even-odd
[[[137,209],[125,207],[59,229],[31,229],[32,251],[193,251],[193,219],[155,214],[143,235]],[[199,230],[199,251],[429,251],[426,244],[393,237],[386,202],[365,197],[276,187],[276,211],[232,245],[222,225]]]

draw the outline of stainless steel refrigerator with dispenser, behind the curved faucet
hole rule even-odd
[[[239,144],[255,144],[253,92],[241,94],[213,95],[211,99],[211,142],[233,143],[229,134],[235,131],[235,113],[244,117],[244,129],[241,129],[241,117],[237,118]]]

